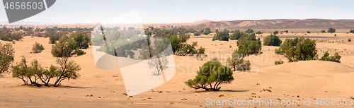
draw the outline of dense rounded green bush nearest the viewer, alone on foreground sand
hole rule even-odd
[[[231,83],[234,80],[231,68],[222,66],[219,61],[207,61],[199,68],[198,75],[195,78],[185,81],[185,85],[194,89],[205,89],[217,91],[220,90],[220,84]]]

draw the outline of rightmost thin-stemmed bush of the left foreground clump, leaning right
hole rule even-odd
[[[81,68],[74,61],[69,61],[67,58],[62,58],[57,59],[57,64],[59,64],[59,68],[55,71],[55,87],[62,85],[62,80],[76,79],[80,77],[80,74],[77,72],[80,71]]]

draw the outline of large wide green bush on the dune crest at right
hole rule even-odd
[[[275,53],[287,56],[289,62],[315,60],[318,57],[316,40],[305,39],[303,36],[286,39]]]

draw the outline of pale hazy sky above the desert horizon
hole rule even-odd
[[[353,0],[57,0],[46,11],[17,23],[102,23],[139,11],[142,23],[183,23],[196,20],[354,19]],[[4,6],[0,22],[8,22]]]

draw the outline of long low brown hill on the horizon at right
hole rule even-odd
[[[198,25],[190,25],[189,28],[226,28],[226,29],[295,29],[295,28],[312,28],[312,29],[353,29],[354,20],[327,20],[327,19],[277,19],[277,20],[231,20],[231,21],[206,21]]]

